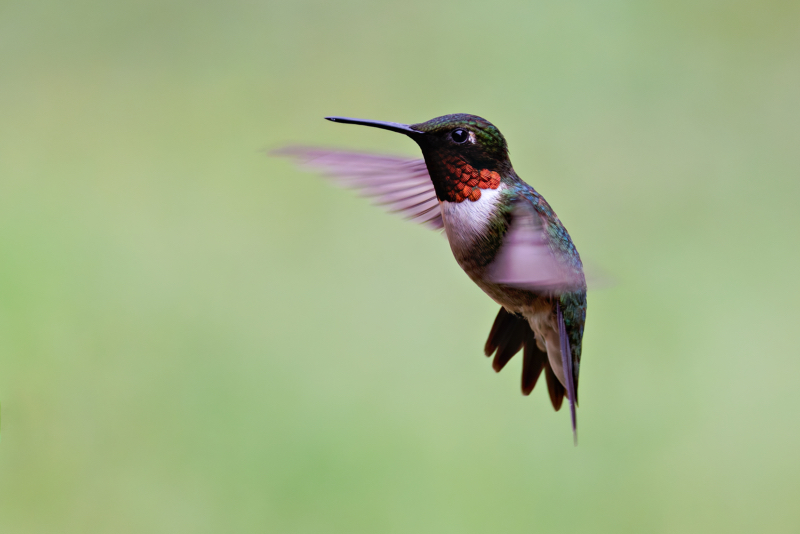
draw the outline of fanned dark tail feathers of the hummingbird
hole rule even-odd
[[[500,308],[492,325],[492,330],[489,332],[489,339],[486,340],[483,352],[486,356],[494,354],[492,367],[499,373],[520,349],[523,349],[522,393],[530,395],[536,385],[536,381],[539,380],[539,376],[542,374],[542,370],[544,370],[547,391],[550,393],[550,402],[553,403],[553,408],[558,411],[567,391],[553,373],[553,369],[547,360],[547,353],[536,345],[533,330],[531,330],[527,319],[522,315],[509,313],[505,308]]]

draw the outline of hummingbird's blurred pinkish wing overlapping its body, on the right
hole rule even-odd
[[[553,252],[546,222],[525,201],[518,201],[497,258],[489,266],[489,279],[543,293],[585,288],[583,277]]]

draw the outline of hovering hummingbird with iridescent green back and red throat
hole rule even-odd
[[[556,213],[514,171],[503,134],[468,114],[401,124],[348,117],[327,120],[410,137],[423,159],[287,147],[279,155],[375,197],[390,211],[444,229],[458,265],[500,305],[484,345],[500,372],[522,350],[522,393],[544,372],[558,411],[575,407],[586,321],[586,278],[578,250]]]

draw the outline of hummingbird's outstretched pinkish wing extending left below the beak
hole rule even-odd
[[[357,189],[362,195],[373,197],[376,204],[413,222],[436,229],[444,226],[424,160],[303,146],[282,148],[272,154],[289,157],[303,169],[321,172],[338,185]]]

